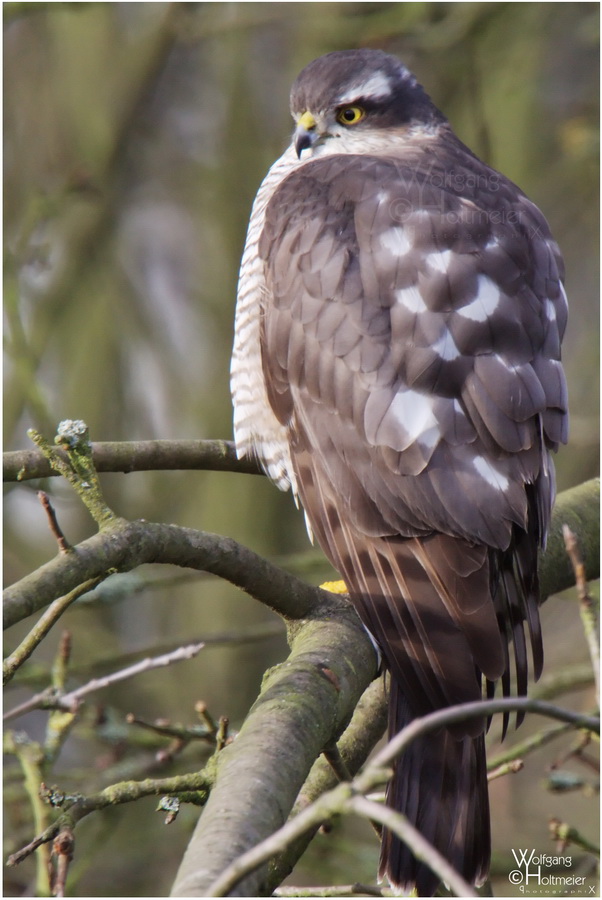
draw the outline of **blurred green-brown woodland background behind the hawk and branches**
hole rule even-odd
[[[83,418],[95,441],[231,437],[238,264],[255,191],[289,140],[290,84],[322,53],[370,46],[398,54],[460,138],[548,218],[564,252],[571,305],[564,360],[572,432],[558,456],[559,490],[597,474],[597,3],[3,9],[6,449],[27,447],[31,426],[52,438],[65,418]],[[122,516],[229,535],[315,583],[332,576],[310,549],[291,498],[266,479],[158,472],[104,475],[102,483]],[[58,479],[8,486],[8,582],[55,553],[40,488],[71,542],[94,532]],[[577,671],[588,656],[574,595],[550,600],[544,620],[547,675]],[[165,568],[112,578],[63,622],[73,635],[73,685],[119,668],[131,654],[213,639],[193,661],[88,700],[49,776],[68,789],[156,772],[153,748],[124,723],[128,712],[192,723],[203,699],[238,727],[263,672],[286,655],[280,623],[260,604],[225,583]],[[9,632],[7,649],[31,625]],[[32,657],[6,705],[47,684],[59,632]],[[593,691],[574,690],[559,702],[589,709]],[[45,725],[41,712],[16,723],[37,740]],[[518,738],[541,727],[527,722]],[[524,772],[492,786],[500,894],[513,890],[512,847],[553,851],[550,816],[595,839],[596,788],[587,769],[563,764],[577,782],[570,793],[542,786],[545,766],[573,742],[555,742],[530,757]],[[205,757],[189,747],[161,772],[199,767]],[[31,838],[33,825],[12,760],[5,774],[12,851]],[[73,895],[169,892],[198,813],[185,809],[165,828],[155,806],[148,799],[82,823]],[[574,852],[587,868],[588,858]],[[315,842],[292,881],[373,881],[377,854],[368,828],[335,829]],[[9,873],[6,894],[31,892],[31,863]]]

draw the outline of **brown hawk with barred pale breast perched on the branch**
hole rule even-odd
[[[292,488],[389,673],[389,732],[538,677],[537,551],[567,439],[567,304],[538,208],[402,63],[329,53],[257,194],[231,386],[239,456]],[[387,802],[473,884],[490,857],[484,720],[397,762]],[[385,831],[380,876],[438,879]]]

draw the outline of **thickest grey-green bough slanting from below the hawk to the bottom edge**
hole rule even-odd
[[[226,866],[282,827],[314,760],[339,737],[375,670],[372,644],[351,609],[294,630],[291,655],[268,674],[236,740],[218,757],[173,896],[207,896]],[[257,896],[265,879],[262,867],[237,893]]]

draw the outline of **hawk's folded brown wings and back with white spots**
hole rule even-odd
[[[518,189],[448,138],[290,175],[260,241],[262,358],[312,529],[414,714],[519,689],[566,439],[560,258]],[[499,588],[490,589],[490,584]],[[468,729],[473,733],[479,725]]]

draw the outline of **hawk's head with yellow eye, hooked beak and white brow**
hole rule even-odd
[[[291,90],[297,156],[365,150],[445,121],[412,73],[382,50],[340,50],[309,63]]]

